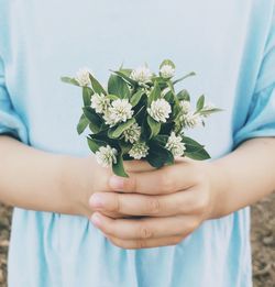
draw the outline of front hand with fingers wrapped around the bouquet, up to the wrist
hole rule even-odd
[[[178,158],[170,166],[129,174],[111,176],[113,192],[97,192],[90,199],[96,210],[91,221],[114,245],[175,245],[213,218],[218,196],[211,163]]]

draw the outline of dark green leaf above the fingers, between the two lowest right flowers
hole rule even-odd
[[[151,141],[148,146],[150,150],[146,159],[153,167],[160,168],[165,164],[174,163],[173,154],[162,146],[157,141]]]

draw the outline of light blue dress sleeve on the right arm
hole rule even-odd
[[[233,135],[234,146],[252,137],[275,136],[275,16],[265,44],[263,59],[245,124]]]

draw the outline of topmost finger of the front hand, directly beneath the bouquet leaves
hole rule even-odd
[[[163,195],[194,186],[199,176],[189,162],[180,162],[152,172],[129,174],[129,178],[112,175],[109,180],[110,188],[121,192]]]

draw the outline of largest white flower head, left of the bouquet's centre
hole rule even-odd
[[[133,113],[132,104],[128,99],[118,99],[112,101],[111,106],[106,111],[103,119],[107,124],[113,126],[119,122],[125,122],[131,119]]]

